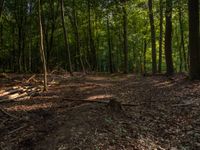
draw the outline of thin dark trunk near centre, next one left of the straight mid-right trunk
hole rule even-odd
[[[109,71],[110,71],[110,73],[113,73],[112,44],[111,44],[110,23],[109,23],[109,15],[108,14],[107,14],[107,38],[108,38]]]

